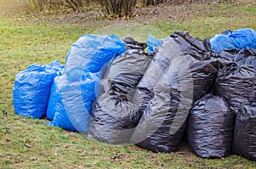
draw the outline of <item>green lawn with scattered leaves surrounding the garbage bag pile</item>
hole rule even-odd
[[[13,108],[15,74],[32,63],[44,65],[59,59],[64,64],[70,46],[84,33],[114,32],[121,37],[145,39],[149,33],[165,37],[172,31],[189,30],[191,35],[203,38],[226,29],[256,29],[255,8],[241,3],[232,7],[231,13],[228,5],[183,20],[159,20],[147,25],[133,25],[133,20],[54,24],[45,21],[50,15],[44,20],[0,18],[0,168],[256,168],[254,161],[237,155],[201,159],[191,153],[187,144],[171,154],[154,154],[131,144],[104,144],[77,132],[48,127],[46,119],[20,117]],[[218,14],[214,11],[217,9]]]

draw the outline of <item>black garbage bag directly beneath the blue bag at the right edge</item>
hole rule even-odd
[[[256,49],[224,50],[220,52],[217,57],[236,62],[237,65],[252,65],[254,69],[256,69]]]

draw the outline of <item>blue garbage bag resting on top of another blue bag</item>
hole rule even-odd
[[[125,52],[125,42],[114,35],[96,36],[85,34],[70,48],[65,72],[81,68],[96,73],[108,60]]]

